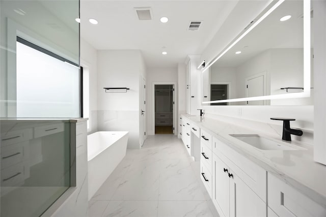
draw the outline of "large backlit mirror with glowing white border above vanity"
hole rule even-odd
[[[272,4],[206,63],[203,105],[313,105],[313,10],[309,1]]]

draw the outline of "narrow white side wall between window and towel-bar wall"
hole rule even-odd
[[[90,131],[97,131],[97,50],[80,39],[80,65],[87,67],[90,74]]]

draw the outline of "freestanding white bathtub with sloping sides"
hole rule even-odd
[[[87,136],[89,200],[125,157],[127,142],[126,131],[99,131]]]

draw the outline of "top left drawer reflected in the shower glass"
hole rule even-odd
[[[23,141],[28,141],[33,138],[33,129],[24,129],[17,131],[10,131],[1,134],[1,146],[16,144]]]

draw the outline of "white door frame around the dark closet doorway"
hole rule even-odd
[[[174,91],[173,91],[173,99],[174,99],[174,104],[173,104],[173,134],[177,135],[177,130],[176,130],[176,126],[177,126],[177,112],[176,112],[176,102],[177,102],[177,98],[176,98],[176,90],[177,90],[177,82],[175,81],[153,81],[152,82],[152,132],[153,135],[155,135],[155,85],[156,84],[166,84],[166,85],[173,85]]]

